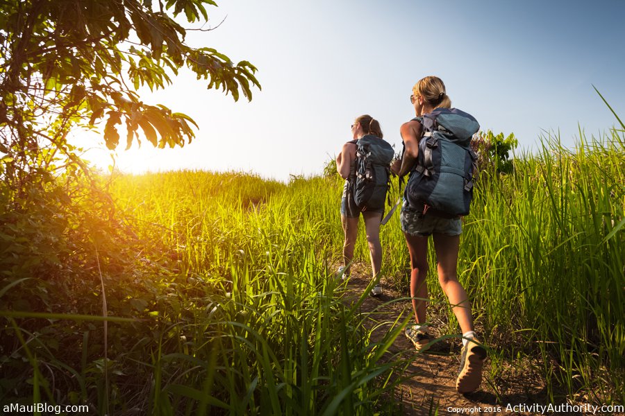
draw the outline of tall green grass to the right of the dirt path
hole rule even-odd
[[[625,140],[622,130],[573,150],[542,137],[514,172],[484,171],[464,219],[458,264],[493,363],[542,363],[549,395],[625,401]],[[407,289],[396,214],[381,234],[389,281]],[[360,253],[360,260],[365,257]],[[446,303],[431,261],[433,302]],[[448,311],[449,333],[458,331]],[[497,372],[497,366],[494,366]]]

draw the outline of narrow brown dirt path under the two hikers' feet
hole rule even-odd
[[[363,293],[368,279],[358,277],[356,270],[359,265],[353,266],[353,274],[347,283],[346,302],[356,302]],[[368,275],[363,273],[363,275]],[[383,305],[393,299],[406,297],[405,293],[397,293],[385,288],[380,297],[367,297],[361,309],[363,312],[372,312],[369,324],[374,327],[380,322],[388,322],[382,325],[372,334],[374,340],[379,339],[384,331],[388,331],[397,316],[403,311],[403,316],[412,315],[412,307],[408,300]],[[433,309],[433,308],[430,308]],[[444,319],[444,311],[436,313],[428,309],[431,321]],[[435,326],[435,325],[434,325]],[[440,336],[436,328],[431,329],[434,336]],[[544,383],[537,375],[537,370],[531,366],[518,363],[502,363],[499,370],[492,371],[491,361],[486,361],[483,370],[482,385],[477,392],[470,395],[460,395],[456,392],[456,376],[460,365],[460,339],[453,338],[442,340],[431,347],[427,354],[419,354],[408,367],[408,379],[398,389],[397,399],[403,402],[404,414],[406,415],[534,415],[535,411],[515,411],[522,408],[514,406],[529,406],[540,404],[549,405],[547,391]],[[401,334],[394,345],[390,348],[392,354],[416,355],[412,343]],[[524,367],[521,370],[520,367]],[[562,400],[562,403],[565,401]],[[510,407],[508,407],[510,405]],[[508,410],[506,410],[508,408]],[[464,410],[464,413],[461,413]]]

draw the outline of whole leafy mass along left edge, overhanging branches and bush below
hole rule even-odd
[[[184,146],[194,138],[194,121],[143,103],[135,92],[166,87],[183,67],[208,88],[250,100],[251,89],[260,88],[256,68],[188,46],[188,29],[174,20],[206,21],[211,5],[2,2],[1,402],[13,396],[54,403],[62,390],[65,403],[94,403],[98,414],[109,413],[120,400],[121,388],[110,383],[124,374],[120,357],[160,339],[150,313],[159,302],[172,304],[167,279],[183,273],[178,253],[158,237],[140,239],[138,227],[119,215],[108,184],[90,173],[67,136],[75,128],[102,128],[110,149],[124,133],[126,147],[143,136],[160,148]],[[142,320],[120,329],[81,318],[107,314]],[[22,317],[19,325],[12,316]]]

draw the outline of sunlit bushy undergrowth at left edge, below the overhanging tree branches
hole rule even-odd
[[[31,368],[24,367],[30,357],[56,369],[56,385],[76,389],[65,390],[71,404],[85,402],[88,390],[102,384],[103,374],[114,368],[106,370],[99,364],[106,350],[101,324],[74,322],[70,317],[102,314],[101,281],[108,288],[111,315],[128,316],[131,311],[140,315],[142,310],[133,306],[150,296],[149,286],[137,279],[147,270],[144,262],[135,260],[142,244],[101,188],[102,184],[94,188],[81,171],[46,183],[26,182],[19,191],[0,182],[2,205],[8,207],[0,211],[1,309],[27,315],[19,327],[11,319],[0,320],[0,401],[5,404],[8,386],[14,392],[28,392],[33,378],[46,392],[41,397],[52,397],[49,390],[54,386],[47,383],[47,374],[38,374],[33,361]],[[33,319],[33,313],[56,318]],[[115,329],[110,331],[113,356],[123,348],[119,343],[131,338]],[[81,347],[82,354],[76,354]]]

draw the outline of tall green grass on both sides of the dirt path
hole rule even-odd
[[[574,150],[544,137],[540,151],[517,155],[510,175],[482,173],[464,221],[459,278],[492,348],[492,372],[501,361],[530,358],[552,396],[563,389],[571,399],[623,403],[625,140],[619,130],[590,141],[580,135]],[[343,302],[333,277],[341,191],[336,177],[113,177],[117,225],[129,235],[123,250],[94,250],[108,336],[88,316],[97,304],[5,313],[3,337],[14,349],[0,357],[8,374],[0,402],[17,395],[85,403],[99,414],[400,412],[392,397],[406,362],[384,354],[406,321],[390,322],[374,342],[359,309],[364,298]],[[368,262],[364,229],[358,239],[356,261]],[[383,278],[407,293],[399,213],[381,240]],[[94,263],[89,250],[78,254]],[[444,303],[430,254],[431,297]],[[34,281],[12,280],[0,297]],[[100,299],[99,281],[90,299]],[[448,311],[443,332],[456,333]],[[41,319],[49,327],[35,324]],[[74,354],[62,354],[70,345]]]

